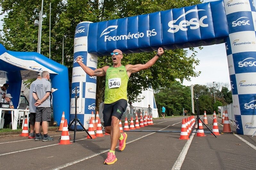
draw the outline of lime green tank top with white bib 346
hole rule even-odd
[[[104,103],[110,104],[120,99],[127,100],[128,79],[125,66],[109,67],[106,72]]]

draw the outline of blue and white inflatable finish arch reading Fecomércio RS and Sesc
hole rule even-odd
[[[74,38],[72,89],[79,86],[82,98],[78,118],[84,126],[95,109],[96,78],[89,77],[76,63],[97,68],[97,57],[118,48],[123,53],[188,48],[226,43],[236,130],[252,135],[256,129],[256,11],[253,0],[220,0],[179,9],[114,19],[81,22]],[[71,103],[74,105],[74,94]],[[74,107],[70,108],[70,119]]]

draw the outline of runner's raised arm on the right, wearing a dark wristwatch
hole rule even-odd
[[[128,76],[130,76],[131,73],[136,73],[140,70],[148,69],[149,67],[151,67],[157,61],[157,59],[163,53],[164,53],[163,48],[158,48],[157,54],[151,60],[149,60],[147,63],[145,63],[145,64],[135,64],[135,65],[131,65],[131,64],[126,65],[125,67],[126,67]]]

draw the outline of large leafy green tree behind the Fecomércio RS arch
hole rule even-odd
[[[62,40],[64,38],[64,65],[69,69],[71,81],[73,65],[73,43],[76,25],[81,21],[100,22],[104,20],[130,17],[156,11],[169,10],[200,4],[201,0],[45,0],[42,24],[41,54],[49,57],[49,4],[51,2],[51,59],[62,63]],[[34,20],[39,18],[41,1],[0,0],[3,18],[3,29],[0,30],[0,43],[12,51],[37,51],[38,27]],[[200,72],[194,67],[199,64],[195,58],[196,51],[187,56],[184,49],[166,50],[165,54],[148,70],[132,74],[128,84],[128,99],[140,100],[138,94],[149,85],[167,87],[176,78],[190,80]],[[145,63],[155,55],[155,52],[124,55],[122,64]],[[98,68],[111,65],[110,56],[98,58]],[[97,80],[97,103],[103,100],[104,78]],[[98,105],[98,104],[97,104]]]

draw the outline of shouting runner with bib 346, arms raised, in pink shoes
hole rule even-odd
[[[82,62],[82,57],[77,58],[77,63],[89,76],[106,76],[103,120],[105,132],[111,135],[110,151],[104,164],[110,165],[117,161],[115,147],[119,139],[119,150],[123,151],[126,145],[127,134],[120,133],[119,122],[127,107],[127,84],[132,73],[145,70],[151,67],[157,59],[164,53],[162,48],[158,48],[157,54],[145,64],[127,64],[123,66],[121,60],[123,53],[115,49],[111,53],[113,65],[104,66],[92,70]]]

